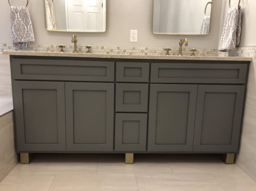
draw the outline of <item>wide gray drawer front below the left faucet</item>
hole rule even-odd
[[[114,82],[114,62],[12,59],[13,79]]]

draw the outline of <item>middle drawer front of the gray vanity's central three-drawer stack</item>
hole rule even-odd
[[[116,84],[117,112],[147,112],[148,84]]]

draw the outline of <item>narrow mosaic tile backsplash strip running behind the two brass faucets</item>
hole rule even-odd
[[[165,55],[166,47],[125,47],[125,46],[92,46],[92,53],[101,54],[129,54],[129,55]],[[35,51],[35,52],[59,52],[58,45],[50,44],[31,44],[30,47],[17,47],[11,43],[0,43],[0,54],[2,51]],[[87,52],[86,46],[78,46],[79,53]],[[191,55],[190,48],[183,48],[184,55]],[[219,52],[218,49],[197,49],[196,55],[198,56],[249,56],[256,59],[256,46],[238,47],[229,53]],[[73,45],[66,45],[64,51],[67,53],[73,52]],[[172,48],[170,55],[177,55],[179,48]]]

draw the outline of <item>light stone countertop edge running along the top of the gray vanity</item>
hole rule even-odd
[[[87,58],[126,58],[126,59],[162,59],[162,60],[219,60],[219,61],[252,61],[252,57],[229,56],[165,56],[165,55],[126,55],[126,54],[94,54],[94,53],[53,53],[29,51],[3,51],[6,55],[22,56],[62,56]]]

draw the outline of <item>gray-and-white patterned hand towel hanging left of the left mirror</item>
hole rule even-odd
[[[11,6],[12,42],[21,47],[27,47],[29,42],[35,42],[32,22],[26,6]]]

